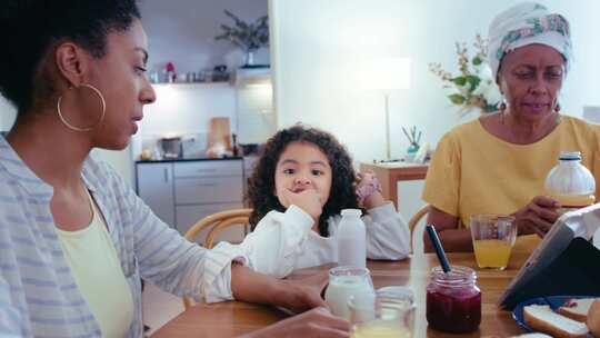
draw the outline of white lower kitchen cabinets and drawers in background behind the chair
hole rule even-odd
[[[243,207],[241,159],[138,162],[137,173],[140,197],[162,219],[162,215],[170,210],[170,225],[177,227],[181,235],[206,216]],[[166,177],[169,178],[168,183]],[[170,192],[167,187],[159,185],[168,185]],[[166,195],[169,195],[169,199]],[[238,242],[244,235],[242,227],[232,227],[218,236],[217,240]],[[199,242],[203,242],[204,237],[206,232],[200,233]]]

